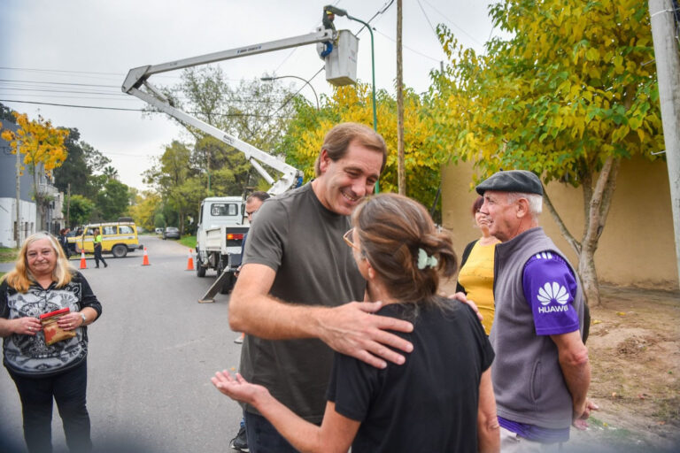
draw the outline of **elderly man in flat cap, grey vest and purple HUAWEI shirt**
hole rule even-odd
[[[583,290],[538,225],[543,186],[534,173],[498,172],[476,187],[496,246],[491,366],[501,450],[558,451],[597,407],[582,340]]]

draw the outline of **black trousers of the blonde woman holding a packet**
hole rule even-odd
[[[85,404],[87,361],[46,378],[27,378],[10,372],[19,390],[24,417],[24,439],[29,453],[52,451],[52,399],[57,402],[66,445],[71,453],[92,450],[89,413]]]

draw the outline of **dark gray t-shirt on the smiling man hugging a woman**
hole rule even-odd
[[[243,264],[274,269],[270,295],[285,302],[335,307],[361,301],[366,281],[343,241],[349,228],[349,219],[328,211],[308,183],[262,204]],[[333,351],[321,340],[270,341],[246,335],[243,342],[243,378],[265,386],[313,423],[323,418],[332,365]],[[245,410],[258,413],[250,405]]]

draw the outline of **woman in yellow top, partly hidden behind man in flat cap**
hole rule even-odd
[[[479,312],[483,315],[484,332],[488,335],[491,332],[495,311],[493,257],[496,244],[500,241],[489,234],[489,219],[479,211],[483,203],[484,198],[479,196],[472,204],[475,225],[482,230],[482,237],[468,243],[463,251],[457,291],[464,292],[469,300],[477,304]]]

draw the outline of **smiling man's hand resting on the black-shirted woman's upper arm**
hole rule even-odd
[[[352,302],[321,311],[317,317],[319,338],[337,352],[376,368],[386,367],[385,360],[402,365],[406,361],[404,356],[388,346],[411,352],[413,344],[387,331],[412,332],[413,324],[372,314],[381,308],[383,303],[380,302]]]

